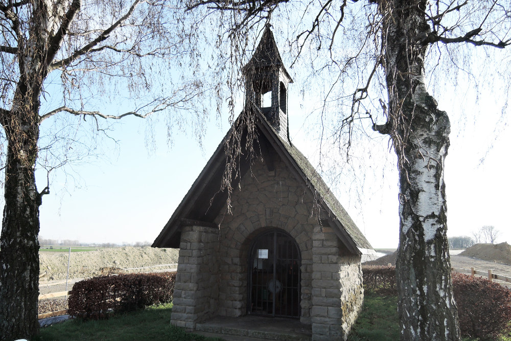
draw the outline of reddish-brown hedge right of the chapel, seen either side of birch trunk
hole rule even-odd
[[[364,290],[378,295],[397,295],[396,268],[362,266]],[[454,301],[463,335],[488,338],[509,329],[511,291],[480,277],[452,273]]]

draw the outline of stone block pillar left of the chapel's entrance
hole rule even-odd
[[[184,226],[171,323],[188,330],[218,310],[218,229]]]

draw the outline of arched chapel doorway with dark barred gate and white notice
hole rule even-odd
[[[288,233],[274,229],[255,237],[248,267],[248,313],[300,317],[298,244]]]

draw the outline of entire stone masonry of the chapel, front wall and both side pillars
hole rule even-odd
[[[259,159],[231,201],[233,214],[217,217],[219,229],[182,230],[171,323],[194,329],[213,315],[245,315],[251,243],[282,229],[301,253],[300,322],[312,325],[313,340],[346,339],[363,302],[360,256],[319,225],[326,212],[303,181],[281,160],[269,171]]]

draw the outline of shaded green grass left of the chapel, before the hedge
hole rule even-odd
[[[102,321],[68,320],[40,329],[34,340],[175,340],[207,341],[220,340],[190,334],[170,324],[172,304],[148,307],[132,313],[111,316]]]

